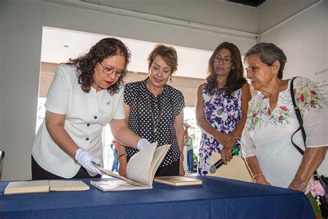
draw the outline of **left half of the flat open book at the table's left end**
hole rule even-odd
[[[48,180],[10,182],[3,194],[48,193],[49,187]]]

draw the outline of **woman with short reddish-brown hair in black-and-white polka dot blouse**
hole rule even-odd
[[[178,57],[172,46],[158,44],[148,56],[149,76],[125,85],[125,116],[129,128],[140,137],[171,144],[155,176],[185,175],[183,168],[183,107],[181,91],[167,85],[172,82]],[[118,173],[127,177],[127,162],[136,154],[135,148],[118,145]]]

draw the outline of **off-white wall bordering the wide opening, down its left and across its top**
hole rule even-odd
[[[32,0],[0,2],[3,16],[0,142],[1,150],[6,152],[3,179],[30,179],[31,176],[30,152],[35,135],[42,26],[206,50],[229,41],[244,53],[255,44],[255,39],[158,24],[65,4]],[[234,16],[241,18],[238,16],[242,15]]]

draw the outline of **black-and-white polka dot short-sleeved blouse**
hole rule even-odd
[[[124,102],[130,107],[129,128],[138,136],[148,139],[158,146],[171,144],[160,166],[167,166],[179,159],[179,150],[174,120],[185,107],[181,91],[165,85],[161,94],[154,96],[147,87],[148,78],[125,85]],[[138,150],[126,148],[126,154],[132,157]]]

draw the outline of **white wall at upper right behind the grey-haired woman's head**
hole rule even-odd
[[[286,54],[284,78],[304,76],[320,83],[328,79],[327,0],[316,3],[260,37],[261,42],[273,42]],[[318,74],[320,71],[325,73]]]

